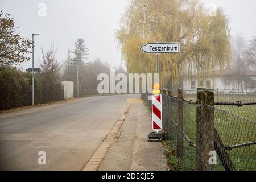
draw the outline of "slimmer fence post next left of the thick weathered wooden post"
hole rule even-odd
[[[177,157],[183,158],[183,89],[178,90]]]

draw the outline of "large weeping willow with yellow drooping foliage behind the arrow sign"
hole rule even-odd
[[[176,88],[180,73],[199,78],[230,61],[228,18],[214,16],[197,0],[131,0],[116,38],[129,73],[155,73],[156,55],[139,50],[148,42],[180,42],[180,53],[160,55],[160,83]]]

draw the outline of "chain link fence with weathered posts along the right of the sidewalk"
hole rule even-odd
[[[166,140],[180,169],[255,171],[256,102],[214,102],[214,90],[205,89],[197,90],[192,101],[179,92],[162,90],[162,112]],[[151,94],[141,98],[151,109]]]

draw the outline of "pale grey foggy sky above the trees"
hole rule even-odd
[[[203,0],[206,5],[222,6],[230,18],[232,34],[242,33],[246,39],[256,35],[255,0]],[[45,3],[46,16],[38,16],[38,4]],[[56,59],[63,63],[68,49],[73,49],[77,38],[85,40],[89,48],[89,59],[97,57],[112,67],[121,64],[121,53],[117,49],[114,32],[119,27],[126,0],[0,0],[0,10],[10,13],[15,27],[21,35],[35,37],[35,64],[41,56],[40,48],[47,51],[51,43],[57,49]],[[22,68],[31,68],[31,61]]]

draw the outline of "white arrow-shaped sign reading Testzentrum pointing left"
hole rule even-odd
[[[139,49],[146,53],[179,53],[180,43],[147,43]]]

